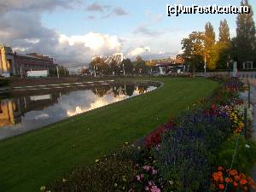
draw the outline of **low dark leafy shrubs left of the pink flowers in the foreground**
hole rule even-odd
[[[113,153],[97,161],[94,166],[80,167],[67,178],[51,183],[46,189],[52,192],[128,191],[136,175],[137,169],[132,160],[125,160],[122,153]]]

